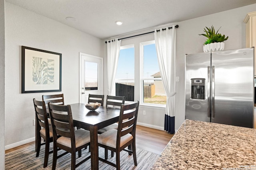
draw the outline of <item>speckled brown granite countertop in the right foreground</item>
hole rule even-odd
[[[152,170],[256,170],[256,129],[185,120]]]

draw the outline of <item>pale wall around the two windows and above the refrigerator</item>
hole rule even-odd
[[[245,23],[243,20],[248,12],[256,10],[256,4],[250,6],[244,6],[242,8],[236,8],[225,12],[220,12],[200,18],[194,18],[192,20],[186,20],[178,23],[170,23],[167,25],[161,25],[155,27],[156,29],[164,28],[166,26],[172,26],[178,24],[179,27],[176,29],[176,50],[177,50],[177,76],[180,77],[180,81],[176,84],[176,116],[175,116],[175,129],[177,130],[185,119],[185,54],[189,53],[202,53],[203,43],[206,37],[198,35],[203,32],[205,26],[210,27],[214,25],[216,29],[220,26],[219,33],[229,36],[228,40],[225,41],[225,49],[239,49],[245,47]],[[120,35],[118,38],[128,37],[131,35],[137,35],[140,33],[146,33],[154,31],[155,28],[145,29],[126,35]],[[154,34],[146,34],[138,37],[129,39],[123,39],[121,46],[134,44],[135,50],[135,86],[139,86],[140,83],[140,51],[139,43],[145,41],[154,40]],[[106,54],[106,45],[104,47]],[[104,56],[106,58],[106,55]],[[106,59],[104,60],[106,61]],[[106,72],[106,63],[104,63],[104,70]],[[104,84],[104,92],[107,93],[106,89],[106,76]],[[139,88],[135,87],[134,100],[140,100]],[[146,110],[146,115],[142,114],[142,111]],[[138,113],[138,124],[154,127],[156,129],[164,129],[164,109],[154,108],[148,106],[140,106]]]

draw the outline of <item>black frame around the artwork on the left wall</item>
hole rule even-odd
[[[26,49],[29,49],[29,50],[32,50],[32,51],[39,51],[39,52],[42,52],[42,53],[46,53],[45,55],[47,54],[54,54],[54,55],[58,55],[59,56],[59,66],[60,66],[60,75],[59,75],[59,87],[58,89],[51,89],[51,90],[46,90],[46,89],[40,89],[40,90],[26,90],[25,91],[25,81],[26,81],[26,65],[25,65],[25,60],[26,60],[26,53],[25,53],[25,50]],[[45,50],[41,50],[41,49],[35,49],[35,48],[31,48],[31,47],[25,47],[25,46],[21,46],[21,93],[39,93],[39,92],[61,92],[61,80],[62,80],[62,54],[61,53],[55,53],[55,52],[52,52],[52,51],[45,51]]]

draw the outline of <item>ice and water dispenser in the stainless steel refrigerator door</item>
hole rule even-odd
[[[191,79],[191,98],[192,99],[205,99],[205,78],[192,78]]]

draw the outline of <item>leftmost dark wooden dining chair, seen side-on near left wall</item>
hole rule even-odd
[[[36,157],[39,156],[41,145],[45,145],[44,149],[44,168],[48,164],[48,157],[52,151],[49,152],[50,142],[53,141],[52,126],[48,123],[48,116],[46,112],[46,105],[44,101],[33,99],[34,108],[36,112]],[[41,138],[44,142],[41,143]]]

